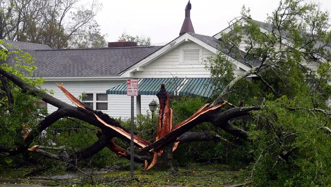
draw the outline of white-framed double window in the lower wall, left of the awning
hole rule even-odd
[[[84,104],[93,110],[108,110],[108,95],[106,93],[86,93]]]

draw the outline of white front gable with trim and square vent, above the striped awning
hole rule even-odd
[[[185,33],[123,71],[121,77],[209,77],[204,61],[207,57],[216,57],[217,46],[215,38]],[[226,54],[240,73],[250,69],[231,56],[231,52]]]

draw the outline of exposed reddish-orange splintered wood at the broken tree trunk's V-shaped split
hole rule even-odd
[[[109,120],[106,120],[97,111],[90,109],[84,103],[76,99],[73,95],[71,95],[71,93],[68,90],[66,90],[63,87],[62,84],[61,85],[57,84],[57,85],[64,92],[66,97],[77,107],[93,112],[96,119],[100,123],[102,123],[106,128],[109,128],[114,132],[113,135],[114,137],[122,137],[122,139],[125,139],[127,141],[131,139],[129,132],[120,128],[120,126],[114,126],[114,124],[109,124]],[[192,116],[176,124],[176,126],[172,127],[173,111],[169,105],[170,102],[169,93],[167,93],[164,83],[161,84],[161,89],[156,96],[159,99],[159,114],[158,114],[158,130],[157,130],[157,135],[155,137],[155,141],[153,143],[150,143],[147,140],[137,135],[134,135],[134,139],[133,139],[134,144],[141,147],[141,151],[153,152],[153,159],[151,164],[148,166],[148,162],[145,161],[145,166],[143,170],[149,170],[156,164],[157,158],[163,153],[163,146],[172,144],[173,146],[172,151],[175,151],[180,143],[180,140],[178,139],[179,136],[181,136],[191,128],[195,127],[200,122],[203,122],[205,120],[205,117],[208,116],[208,114],[219,110],[222,106],[226,104],[226,102],[223,102],[213,107],[209,107],[209,104],[205,104]],[[116,152],[118,156],[128,155],[128,152],[125,149],[116,145],[113,140],[108,142],[107,147],[112,151]],[[31,149],[34,150],[36,148],[32,147]]]

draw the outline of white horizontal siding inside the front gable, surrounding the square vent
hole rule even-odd
[[[202,48],[202,60],[199,63],[183,63],[181,60],[181,50],[183,48]],[[205,63],[208,57],[216,57],[216,54],[194,42],[185,42],[174,48],[163,56],[152,61],[144,67],[144,71],[134,73],[135,78],[200,78],[210,77],[209,70],[206,69]],[[235,75],[242,74],[241,69],[234,69]]]

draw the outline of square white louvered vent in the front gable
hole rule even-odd
[[[181,47],[179,51],[179,60],[183,64],[201,64],[202,47],[187,46]]]

